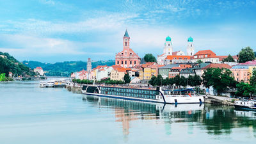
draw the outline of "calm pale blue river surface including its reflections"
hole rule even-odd
[[[0,143],[256,143],[256,113],[0,83]]]

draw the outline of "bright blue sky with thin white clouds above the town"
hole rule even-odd
[[[256,51],[256,1],[0,0],[0,51],[19,61],[115,60],[127,29],[130,47],[142,58],[173,51],[211,49],[235,55]]]

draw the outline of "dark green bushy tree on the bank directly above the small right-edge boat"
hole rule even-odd
[[[255,87],[248,83],[238,83],[236,84],[236,95],[242,97],[250,97],[253,93],[255,93]]]

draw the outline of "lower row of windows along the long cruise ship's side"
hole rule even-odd
[[[143,99],[156,99],[156,95],[144,95],[141,93],[122,93],[122,92],[106,92],[102,91],[102,94],[107,95],[119,95],[119,96],[126,96],[126,97],[138,97]]]

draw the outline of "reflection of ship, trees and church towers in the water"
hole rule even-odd
[[[122,122],[123,134],[128,135],[130,122],[134,120],[154,120],[164,122],[164,131],[172,134],[172,124],[186,123],[188,134],[195,127],[207,130],[208,134],[231,134],[232,129],[248,127],[251,134],[256,132],[256,113],[236,111],[230,106],[211,104],[152,104],[131,100],[106,99],[84,96],[83,100],[97,102],[99,108],[111,108],[115,111],[116,122]],[[254,137],[255,134],[253,135]]]

